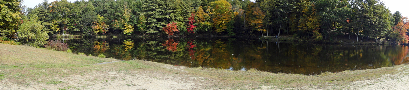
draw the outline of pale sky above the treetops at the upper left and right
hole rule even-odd
[[[48,2],[52,2],[52,1],[55,1],[55,0],[49,0]],[[67,1],[74,2],[76,0],[67,0]],[[43,0],[25,0],[23,4],[27,5],[27,7],[35,7],[41,2],[43,2]],[[409,9],[407,9],[406,7],[406,5],[409,3],[409,0],[383,0],[383,2],[385,2],[385,6],[389,7],[389,10],[392,13],[395,13],[396,11],[400,11],[402,16],[409,16]]]

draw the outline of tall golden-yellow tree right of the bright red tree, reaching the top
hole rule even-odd
[[[217,0],[211,2],[213,7],[213,27],[216,29],[216,33],[224,32],[227,29],[227,25],[233,18],[233,12],[231,11],[231,5],[226,0]]]

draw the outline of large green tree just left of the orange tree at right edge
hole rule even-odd
[[[385,31],[391,29],[390,11],[380,0],[353,0],[351,3],[353,6],[351,21],[358,36],[361,33],[362,37],[366,36],[368,40],[369,37],[382,37],[386,34]]]

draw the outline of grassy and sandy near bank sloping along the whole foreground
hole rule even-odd
[[[408,75],[408,65],[325,72],[308,76],[276,74],[255,69],[229,71],[202,67],[188,68],[150,61],[119,61],[24,45],[0,44],[0,55],[0,88],[3,90],[360,90],[371,85],[379,85],[371,84],[377,82],[385,82],[384,86],[393,86],[396,83],[386,81],[395,79],[402,84],[409,82],[407,78],[402,77]],[[119,62],[94,65],[112,61]],[[387,78],[389,76],[396,78]]]

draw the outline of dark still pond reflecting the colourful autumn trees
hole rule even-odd
[[[73,53],[104,54],[120,60],[307,75],[409,62],[408,47],[400,45],[314,45],[227,37],[79,38],[64,42]]]

